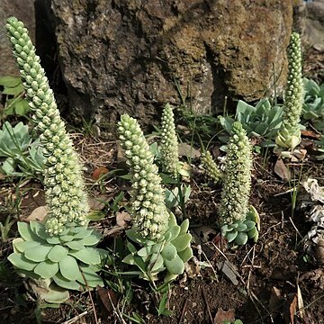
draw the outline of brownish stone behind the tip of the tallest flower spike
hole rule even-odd
[[[0,1],[0,76],[19,76],[10,41],[7,38],[5,23],[11,15],[25,23],[30,31],[31,40],[35,40],[34,0]]]

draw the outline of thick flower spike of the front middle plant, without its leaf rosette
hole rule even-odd
[[[118,132],[130,166],[134,225],[143,238],[157,240],[166,232],[169,214],[164,203],[161,178],[157,174],[157,166],[153,164],[153,154],[138,121],[128,114],[121,116]]]

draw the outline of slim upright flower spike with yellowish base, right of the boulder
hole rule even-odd
[[[280,148],[293,150],[301,142],[302,114],[302,44],[300,35],[293,32],[288,47],[288,77],[284,98],[284,121],[275,139]]]

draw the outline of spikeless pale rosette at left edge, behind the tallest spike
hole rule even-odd
[[[44,172],[44,157],[38,142],[32,141],[29,128],[22,121],[14,127],[5,121],[0,130],[0,158],[4,158],[0,168],[4,174],[31,175],[41,179]]]

